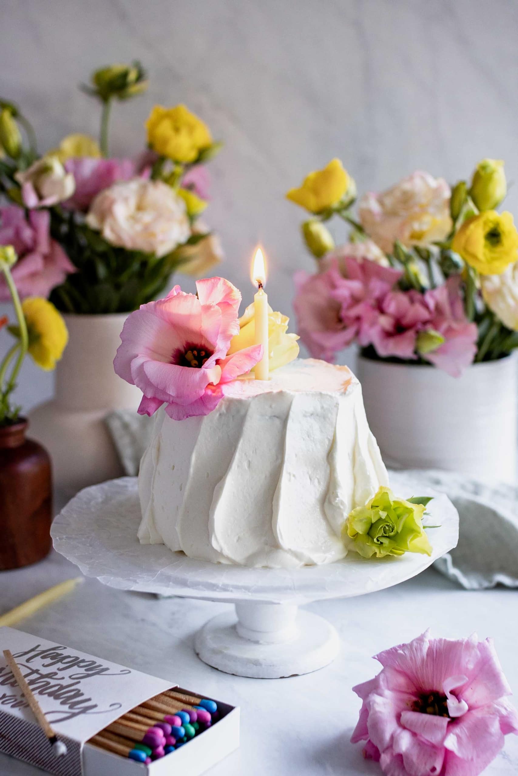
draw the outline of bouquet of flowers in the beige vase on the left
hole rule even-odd
[[[12,245],[20,296],[49,296],[58,310],[123,313],[158,296],[179,270],[198,275],[221,248],[198,220],[207,206],[207,171],[221,144],[183,106],[155,106],[147,149],[134,158],[109,154],[115,100],[147,87],[141,64],[114,64],[83,90],[102,106],[99,144],[64,137],[40,156],[30,122],[0,100],[0,244]],[[9,299],[0,279],[0,300]]]

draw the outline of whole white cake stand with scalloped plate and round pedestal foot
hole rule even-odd
[[[392,487],[403,497],[434,495],[428,511],[431,557],[365,560],[356,553],[327,566],[249,569],[207,563],[172,553],[164,545],[141,545],[137,480],[122,477],[82,490],[52,526],[54,547],[87,577],[121,590],[205,601],[227,601],[235,612],[212,618],[196,634],[196,654],[228,674],[273,679],[308,674],[331,663],[339,637],[324,618],[299,605],[325,598],[352,598],[398,584],[457,544],[458,514],[446,496],[412,486],[395,473]]]

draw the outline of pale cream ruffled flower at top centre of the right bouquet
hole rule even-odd
[[[449,234],[450,186],[443,178],[416,171],[381,194],[369,192],[360,199],[360,222],[382,251],[394,243],[428,245]]]

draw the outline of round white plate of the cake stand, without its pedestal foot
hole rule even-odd
[[[393,479],[398,480],[398,487],[405,483],[412,489],[408,473]],[[172,553],[163,545],[141,545],[136,539],[136,510],[140,514],[140,508],[135,477],[108,480],[80,491],[57,515],[51,533],[57,552],[79,566],[85,576],[110,587],[207,601],[303,604],[391,587],[447,553],[457,543],[458,514],[444,494],[434,501],[431,511],[440,511],[443,522],[430,535],[431,557],[407,553],[401,558],[366,561],[349,553],[337,563],[300,569],[226,566]],[[363,575],[361,582],[359,574]]]

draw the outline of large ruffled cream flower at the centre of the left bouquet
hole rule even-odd
[[[96,196],[86,223],[112,245],[128,251],[173,251],[190,236],[186,204],[162,181],[133,178],[115,183]]]

